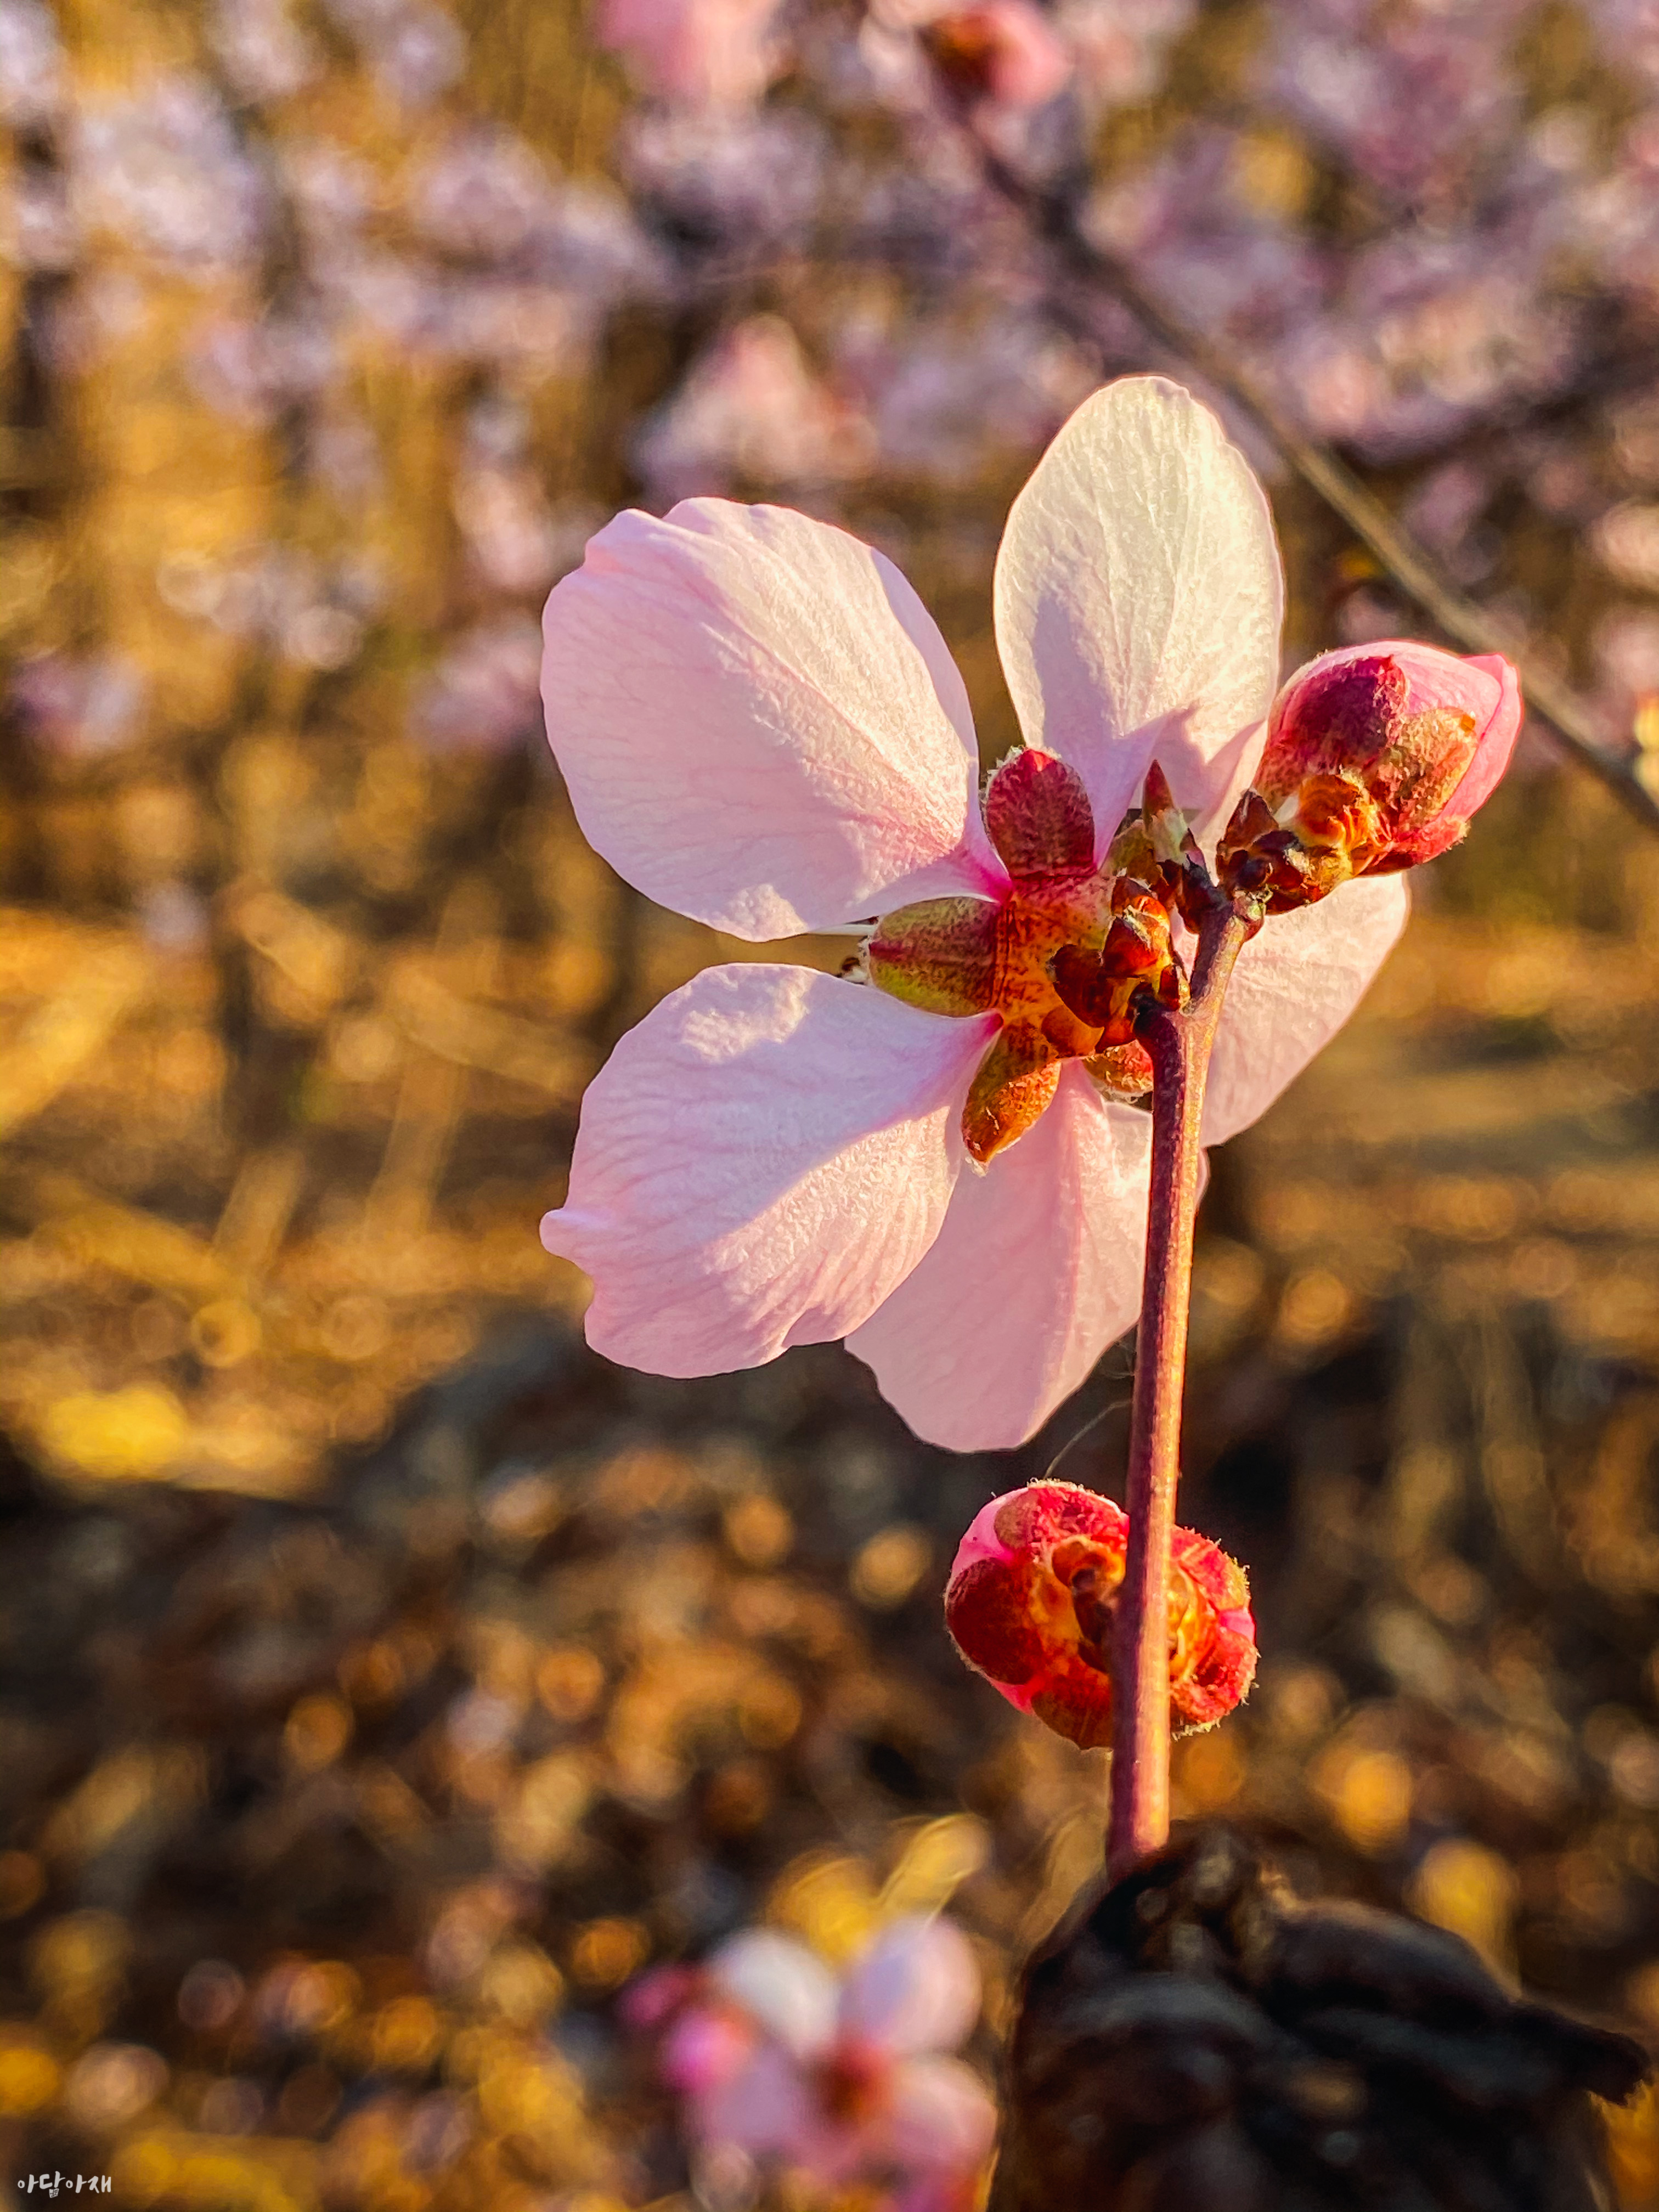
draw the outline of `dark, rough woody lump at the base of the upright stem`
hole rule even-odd
[[[1597,2212],[1586,2093],[1646,2070],[1442,1929],[1287,1896],[1212,1825],[1033,1962],[991,2203]]]

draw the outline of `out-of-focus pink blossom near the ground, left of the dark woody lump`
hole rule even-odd
[[[843,1982],[794,1938],[745,1929],[624,2004],[661,2028],[664,2081],[706,2154],[832,2188],[896,2181],[920,2205],[949,2201],[938,2185],[971,2181],[991,2150],[991,2097],[949,2057],[980,2017],[973,1951],[949,1920],[891,1920]]]

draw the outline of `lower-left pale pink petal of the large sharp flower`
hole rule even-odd
[[[703,969],[588,1084],[542,1241],[593,1276],[595,1352],[664,1376],[845,1336],[938,1234],[995,1015],[801,967]]]

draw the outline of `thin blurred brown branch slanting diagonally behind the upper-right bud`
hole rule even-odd
[[[1033,228],[1060,257],[1077,274],[1113,292],[1150,336],[1168,345],[1172,354],[1188,363],[1206,383],[1214,385],[1217,392],[1225,392],[1232,405],[1256,425],[1296,476],[1325,500],[1332,513],[1340,515],[1376,564],[1422,608],[1444,637],[1464,653],[1506,655],[1520,670],[1531,714],[1548,723],[1566,754],[1579,768],[1588,768],[1646,830],[1659,830],[1659,801],[1599,741],[1588,708],[1535,655],[1520,648],[1500,624],[1458,591],[1411,533],[1394,520],[1376,493],[1354,476],[1347,462],[1338,460],[1329,447],[1307,438],[1237,361],[1157,301],[1117,254],[1095,246],[1084,234],[1077,206],[1068,192],[1029,184],[978,135],[975,144],[989,181],[1031,219]]]

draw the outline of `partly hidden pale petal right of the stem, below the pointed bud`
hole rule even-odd
[[[1272,914],[1239,953],[1217,1031],[1203,1141],[1256,1121],[1336,1035],[1391,953],[1405,876],[1360,876],[1294,914]]]

